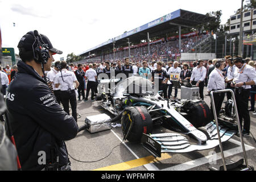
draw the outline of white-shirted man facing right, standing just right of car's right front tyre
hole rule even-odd
[[[225,67],[224,61],[217,61],[215,64],[215,69],[210,73],[209,75],[209,82],[208,82],[208,92],[216,91],[216,90],[224,90],[225,89],[225,78],[222,74],[222,70]],[[214,104],[216,108],[217,116],[220,113],[222,103],[224,101],[225,93],[217,93],[214,94]],[[212,102],[210,104],[210,111],[212,112],[212,118],[213,116],[213,107]]]

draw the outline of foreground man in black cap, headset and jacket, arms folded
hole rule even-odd
[[[57,104],[44,76],[44,70],[51,69],[52,55],[62,52],[37,31],[24,35],[18,48],[22,61],[7,89],[6,105],[22,169],[70,170],[64,140],[75,138],[78,126]],[[10,134],[7,125],[6,129]],[[46,163],[40,162],[42,157]]]

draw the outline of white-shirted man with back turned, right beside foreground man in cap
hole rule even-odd
[[[60,72],[56,74],[56,79],[54,80],[56,88],[61,90],[61,102],[64,107],[64,111],[69,115],[69,102],[71,104],[72,116],[77,121],[77,111],[76,111],[76,92],[75,89],[79,87],[79,82],[77,81],[74,72],[68,71],[67,62],[61,61]],[[76,83],[76,88],[74,86]]]

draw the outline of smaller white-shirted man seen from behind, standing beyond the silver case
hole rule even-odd
[[[85,102],[88,101],[88,96],[89,96],[89,92],[91,90],[92,96],[91,96],[91,100],[92,102],[94,101],[94,97],[96,94],[96,89],[97,89],[97,85],[96,85],[96,80],[97,80],[97,73],[96,71],[93,69],[93,64],[89,64],[89,69],[88,71],[85,72],[85,79],[88,78],[88,82],[87,82],[87,86],[86,86],[86,96],[85,96]]]

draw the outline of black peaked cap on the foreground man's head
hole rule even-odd
[[[43,34],[39,34],[39,42],[41,44],[43,44],[44,47],[46,47],[47,49],[49,49],[50,51],[54,52],[54,53],[57,53],[57,54],[62,54],[63,52],[56,49],[56,48],[53,48],[52,46],[52,43],[51,41],[47,38],[46,35],[43,35]],[[19,51],[33,51],[33,44],[35,43],[35,35],[34,35],[34,32],[33,31],[30,31],[30,32],[27,32],[26,35],[24,35],[20,41],[19,41],[19,44],[18,44],[18,48],[19,48]],[[37,46],[37,43],[34,44],[34,49],[35,47]]]

